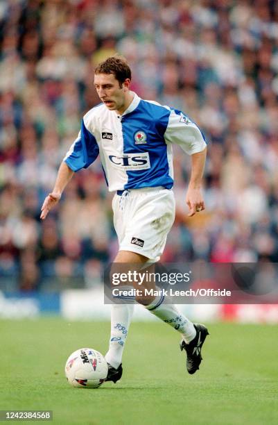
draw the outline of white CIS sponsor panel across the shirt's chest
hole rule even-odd
[[[108,158],[114,167],[118,167],[126,171],[150,168],[150,157],[148,152],[123,153],[123,156],[110,155]]]

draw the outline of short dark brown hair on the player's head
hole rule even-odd
[[[110,56],[96,67],[95,74],[114,74],[120,85],[126,78],[131,80],[131,69],[128,61],[120,55]]]

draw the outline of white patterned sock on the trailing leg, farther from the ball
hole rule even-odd
[[[193,323],[177,310],[168,297],[164,295],[155,297],[153,302],[146,308],[150,313],[175,328],[177,332],[180,332],[186,344],[189,344],[196,337],[196,329]]]

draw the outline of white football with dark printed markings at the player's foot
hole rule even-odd
[[[64,372],[73,387],[98,388],[107,377],[108,366],[101,353],[82,348],[69,356]]]

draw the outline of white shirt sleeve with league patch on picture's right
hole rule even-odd
[[[200,128],[180,110],[171,110],[168,126],[164,133],[165,142],[180,145],[189,155],[202,152],[207,146]]]

